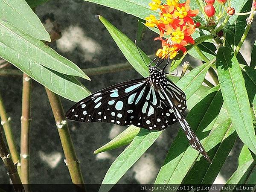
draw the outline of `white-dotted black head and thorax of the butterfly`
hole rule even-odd
[[[150,73],[148,81],[150,81],[150,84],[155,90],[160,90],[160,85],[164,88],[166,87],[166,75],[162,70],[158,69],[157,67],[150,67],[148,71]]]

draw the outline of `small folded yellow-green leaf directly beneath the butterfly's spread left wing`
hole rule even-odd
[[[134,137],[136,137],[139,132],[140,132],[140,128],[134,125],[131,125],[128,128],[126,128],[125,131],[117,135],[113,140],[106,143],[102,147],[96,149],[93,153],[98,154],[104,151],[109,151],[114,148],[119,148],[121,146],[128,145],[129,143],[132,142]]]

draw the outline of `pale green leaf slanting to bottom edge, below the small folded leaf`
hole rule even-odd
[[[131,144],[112,163],[102,181],[102,184],[108,185],[101,185],[99,192],[109,191],[125,172],[145,153],[152,143],[154,143],[161,133],[162,131],[141,129]]]

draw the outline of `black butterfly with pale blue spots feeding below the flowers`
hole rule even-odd
[[[73,105],[66,117],[79,122],[132,124],[148,130],[163,130],[179,122],[192,148],[211,163],[184,118],[187,108],[185,93],[166,77],[166,66],[163,70],[158,68],[162,62],[158,60],[154,67],[149,64],[147,78],[125,81],[87,96]]]

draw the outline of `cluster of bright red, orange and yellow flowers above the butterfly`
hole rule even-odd
[[[158,49],[157,56],[160,58],[175,58],[179,51],[186,52],[187,44],[194,44],[191,37],[195,32],[195,22],[191,17],[198,14],[198,10],[191,10],[189,0],[179,3],[178,0],[166,0],[166,4],[160,0],[152,0],[149,3],[151,10],[160,9],[160,19],[154,15],[146,17],[146,26],[157,27],[160,37],[155,40],[162,41],[162,49]],[[169,36],[163,39],[163,35]]]

